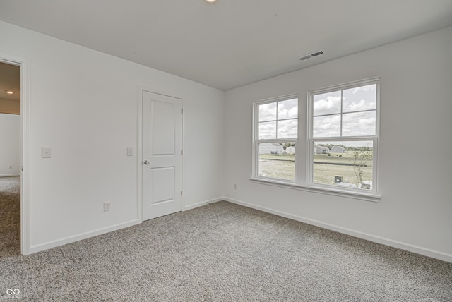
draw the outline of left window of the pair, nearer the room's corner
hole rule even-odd
[[[297,96],[255,103],[254,111],[254,176],[295,181]]]

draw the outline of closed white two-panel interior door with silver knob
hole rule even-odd
[[[182,211],[182,99],[143,91],[143,221]]]

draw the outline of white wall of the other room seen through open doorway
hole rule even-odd
[[[20,115],[0,114],[0,177],[20,175],[21,137]]]

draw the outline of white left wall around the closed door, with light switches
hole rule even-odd
[[[186,208],[222,196],[224,92],[8,23],[0,36],[30,64],[31,252],[138,222],[138,85],[184,98]]]

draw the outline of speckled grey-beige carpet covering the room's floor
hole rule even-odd
[[[27,256],[17,244],[1,243],[0,298],[452,301],[452,263],[227,202]]]

